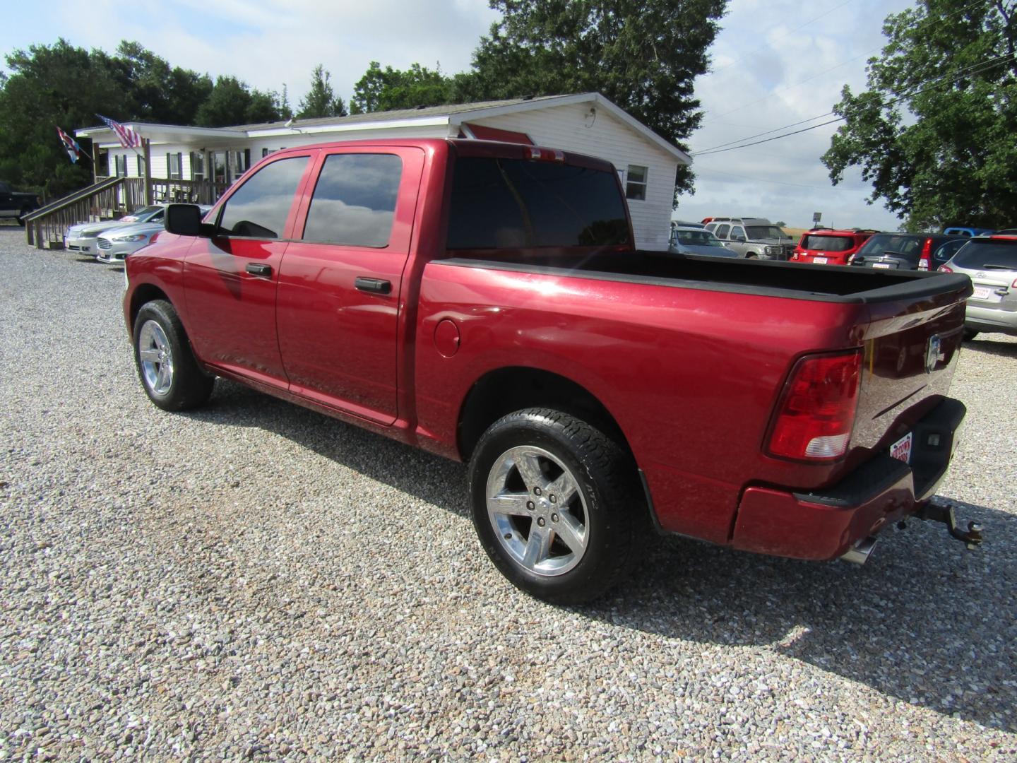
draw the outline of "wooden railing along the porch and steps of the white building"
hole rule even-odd
[[[155,203],[211,204],[229,187],[211,180],[167,180],[154,178],[151,198]],[[51,201],[24,217],[27,242],[38,249],[63,241],[69,226],[89,221],[113,220],[145,206],[145,179],[141,177],[102,178],[85,188]]]

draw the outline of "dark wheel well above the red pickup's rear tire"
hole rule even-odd
[[[536,368],[500,368],[478,379],[459,416],[459,452],[469,461],[491,424],[523,408],[553,408],[583,419],[631,453],[617,421],[589,391],[564,376]]]

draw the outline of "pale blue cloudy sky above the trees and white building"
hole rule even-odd
[[[886,15],[912,4],[731,0],[710,50],[712,70],[696,81],[706,114],[691,151],[827,114],[845,84],[855,93],[864,87],[865,61],[885,43]],[[171,65],[230,74],[263,91],[285,84],[296,107],[317,64],[344,101],[371,61],[466,70],[497,17],[486,0],[41,0],[5,10],[0,54],[60,37],[113,53],[121,40],[133,40]],[[836,127],[694,158],[696,193],[681,196],[679,215],[766,217],[809,227],[820,212],[824,225],[896,230],[894,214],[880,201],[865,202],[871,187],[857,171],[837,186],[830,182],[820,157]]]

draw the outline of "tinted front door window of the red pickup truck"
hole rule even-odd
[[[223,208],[219,227],[228,236],[279,238],[308,157],[273,162],[251,175]]]

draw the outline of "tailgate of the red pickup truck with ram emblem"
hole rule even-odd
[[[917,302],[871,304],[849,460],[889,448],[946,397],[960,354],[970,284],[944,280]],[[860,451],[860,452],[859,452]]]

